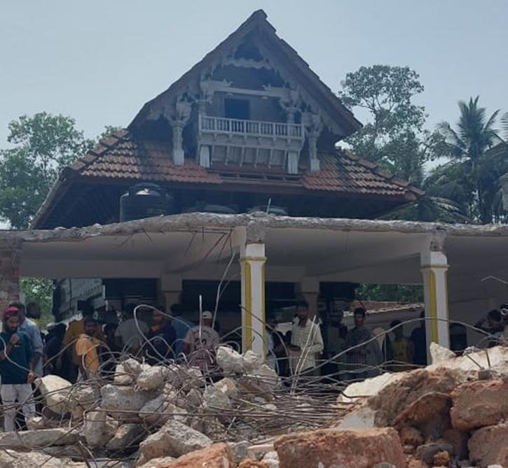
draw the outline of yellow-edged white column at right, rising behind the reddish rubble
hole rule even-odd
[[[420,255],[425,295],[427,353],[430,343],[450,347],[448,324],[448,260],[444,252],[427,250]]]

